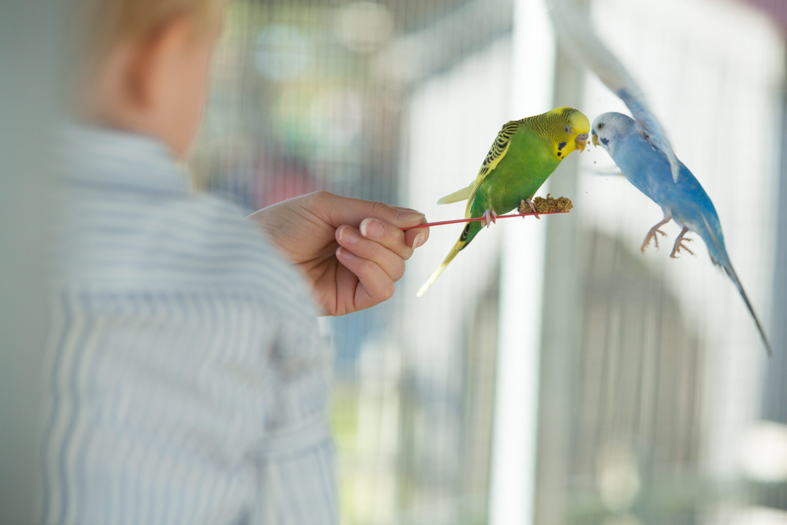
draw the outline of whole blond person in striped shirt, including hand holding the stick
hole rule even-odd
[[[45,372],[42,523],[336,523],[317,316],[391,297],[422,213],[190,194],[222,0],[84,0]]]

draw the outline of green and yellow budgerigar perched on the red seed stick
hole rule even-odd
[[[429,290],[482,227],[489,227],[498,215],[526,205],[535,211],[530,199],[560,161],[574,150],[585,150],[589,131],[588,117],[566,107],[505,124],[470,186],[438,201],[438,204],[449,204],[467,199],[465,218],[484,217],[484,220],[467,223],[448,257],[418,290],[418,297]]]

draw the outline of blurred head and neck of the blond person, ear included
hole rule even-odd
[[[153,135],[182,157],[201,121],[227,0],[76,0],[81,120]]]

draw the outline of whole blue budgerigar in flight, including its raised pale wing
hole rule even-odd
[[[645,101],[645,94],[634,77],[623,66],[615,54],[598,39],[589,20],[583,20],[576,9],[575,0],[545,0],[549,7],[552,25],[563,49],[585,65],[609,90],[617,95],[634,116],[622,113],[604,113],[591,127],[593,144],[600,143],[611,155],[615,164],[638,190],[656,201],[664,212],[664,219],[652,227],[642,243],[642,253],[651,241],[659,246],[658,235],[666,235],[659,228],[675,220],[683,228],[675,240],[671,257],[681,250],[692,253],[685,246],[690,239],[686,233],[694,231],[708,246],[713,263],[724,268],[741,292],[748,311],[765,343],[770,355],[770,343],[760,324],[751,301],[738,279],[730,256],[724,246],[722,226],[711,199],[700,183],[675,155],[667,133]]]

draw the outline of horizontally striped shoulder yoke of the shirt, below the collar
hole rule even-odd
[[[277,312],[316,315],[305,278],[230,201],[124,193],[83,199],[68,216],[58,260],[72,284],[238,291]]]

